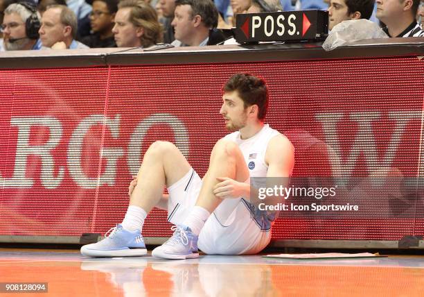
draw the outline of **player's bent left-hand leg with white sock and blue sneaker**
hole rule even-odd
[[[191,169],[179,149],[170,142],[154,142],[143,156],[143,162],[132,182],[130,206],[121,224],[96,244],[82,246],[82,255],[91,257],[141,256],[147,253],[141,229],[154,206],[164,207],[164,186],[169,187]]]

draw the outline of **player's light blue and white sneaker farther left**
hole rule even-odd
[[[128,231],[118,224],[107,231],[105,237],[96,244],[82,246],[81,254],[89,257],[136,257],[147,254],[140,230]]]

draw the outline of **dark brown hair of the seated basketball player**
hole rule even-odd
[[[258,105],[258,119],[263,121],[267,115],[269,95],[265,80],[251,74],[234,74],[222,88],[224,92],[238,92],[245,108]]]

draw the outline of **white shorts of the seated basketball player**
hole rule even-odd
[[[202,180],[191,169],[174,185],[168,187],[168,221],[182,224],[195,206]],[[206,220],[198,246],[207,254],[255,254],[270,243],[270,230],[261,230],[242,198],[224,199]]]

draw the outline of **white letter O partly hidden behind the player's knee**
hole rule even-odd
[[[184,157],[188,158],[188,132],[184,123],[173,114],[157,113],[152,114],[141,121],[131,135],[128,144],[128,169],[132,176],[136,176],[141,165],[141,147],[148,130],[154,125],[166,124],[173,129],[175,146],[181,151]]]

